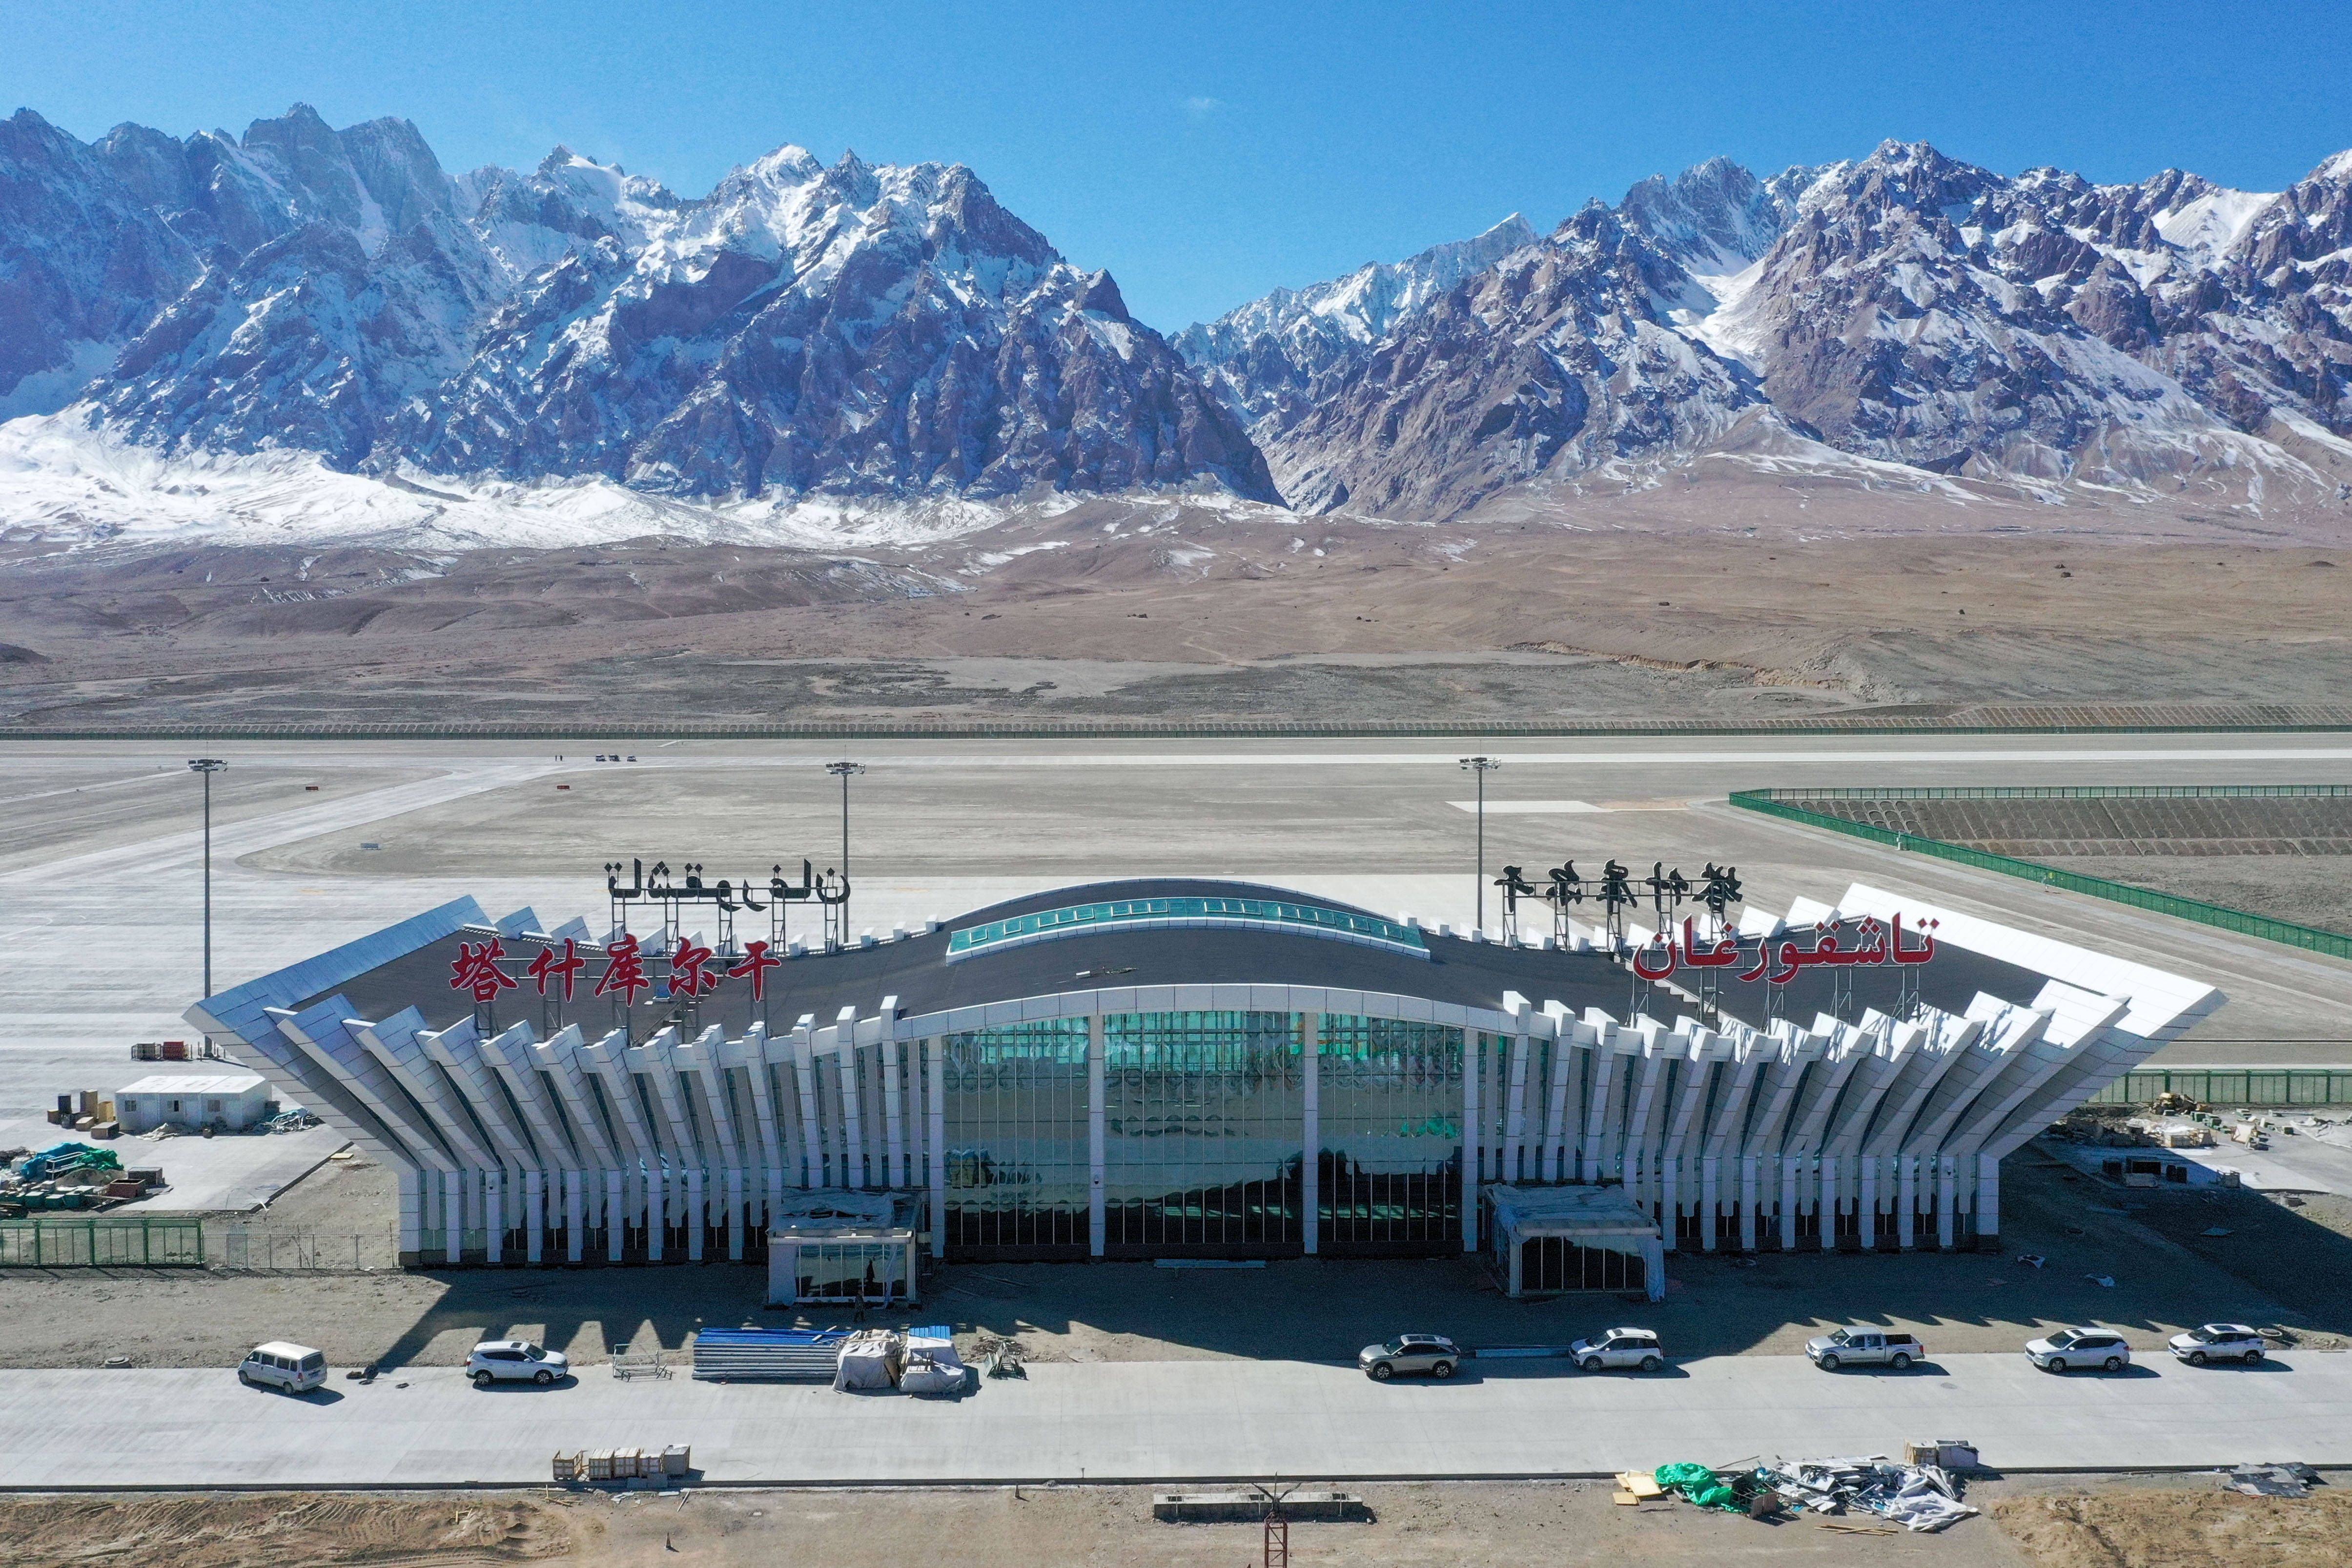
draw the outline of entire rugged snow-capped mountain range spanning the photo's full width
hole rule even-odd
[[[40,538],[931,538],[1169,487],[1425,522],[1724,465],[2345,512],[2352,153],[2284,193],[1717,158],[1162,339],[960,165],[788,146],[682,197],[567,148],[449,176],[306,106],[19,110],[0,421],[0,529]]]

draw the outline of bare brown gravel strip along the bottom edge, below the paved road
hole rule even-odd
[[[2343,1476],[2336,1476],[2343,1486]],[[1291,1561],[1355,1568],[1524,1563],[1755,1563],[1757,1568],[2321,1568],[2343,1561],[2352,1488],[2241,1497],[2213,1476],[1976,1479],[1985,1509],[1940,1535],[1877,1533],[1867,1516],[1757,1523],[1679,1502],[1618,1507],[1606,1483],[1359,1486],[1369,1523],[1294,1523]],[[1832,1528],[1849,1526],[1849,1528]],[[0,1497],[21,1568],[169,1561],[174,1568],[480,1568],[654,1563],[927,1561],[953,1540],[960,1568],[1117,1563],[1195,1568],[1263,1561],[1263,1526],[1152,1521],[1129,1486],[727,1490],[619,1497],[463,1495],[73,1495]]]

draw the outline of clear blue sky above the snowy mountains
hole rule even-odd
[[[2352,5],[393,5],[0,0],[0,113],[242,129],[414,120],[699,195],[783,141],[971,165],[1145,322],[1550,226],[1715,153],[1884,136],[2100,181],[2274,190],[2352,146]]]

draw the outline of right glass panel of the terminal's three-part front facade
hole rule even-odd
[[[1463,1032],[1324,1013],[1317,1091],[1319,1251],[1461,1248]]]

